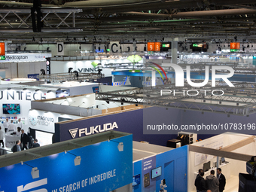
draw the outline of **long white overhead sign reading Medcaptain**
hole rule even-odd
[[[51,57],[51,53],[7,53],[0,62],[40,62]]]

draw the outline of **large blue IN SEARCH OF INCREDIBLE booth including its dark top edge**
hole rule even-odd
[[[0,162],[1,191],[122,191],[132,183],[133,136],[111,131],[7,154]]]

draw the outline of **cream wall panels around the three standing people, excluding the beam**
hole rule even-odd
[[[223,133],[218,136],[213,136],[209,139],[205,139],[200,142],[196,142],[192,145],[206,147],[206,148],[214,148],[220,149],[224,148],[227,145],[231,145],[235,142],[239,142],[242,139],[246,139],[250,137],[250,135],[245,134],[237,134],[237,133]],[[254,156],[256,154],[256,144],[252,142],[248,145],[243,146],[242,148],[238,148],[232,152],[240,153],[240,154],[248,154]],[[194,186],[194,181],[197,177],[197,172],[199,169],[203,169],[203,163],[207,163],[211,161],[211,168],[214,167],[214,163],[216,162],[217,157],[213,157],[208,154],[200,154],[189,151],[188,155],[188,190],[187,191],[196,191],[196,187]],[[221,160],[221,157],[219,157]],[[238,176],[239,172],[246,173],[246,162],[240,160],[232,160],[229,158],[225,158],[226,161],[230,162],[227,164],[222,164],[219,166],[222,169],[222,173],[225,175],[226,180],[234,176]],[[216,174],[216,171],[215,171]],[[206,175],[209,175],[206,174]],[[206,178],[206,175],[204,178]],[[237,184],[238,181],[237,181]]]

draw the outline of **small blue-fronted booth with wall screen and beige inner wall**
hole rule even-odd
[[[167,191],[187,190],[187,146],[173,149],[133,142],[133,191],[160,191],[163,188]]]

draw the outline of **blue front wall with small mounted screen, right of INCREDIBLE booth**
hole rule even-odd
[[[151,168],[147,169],[147,166]],[[162,175],[152,179],[151,169],[159,166],[162,167]],[[145,167],[146,170],[144,171]],[[148,187],[144,187],[144,174],[146,172],[150,172],[150,185]],[[140,184],[133,187],[134,192],[160,191],[160,183],[164,178],[167,185],[165,190],[168,192],[187,191],[187,145],[134,162],[133,175],[138,174],[140,174]]]

